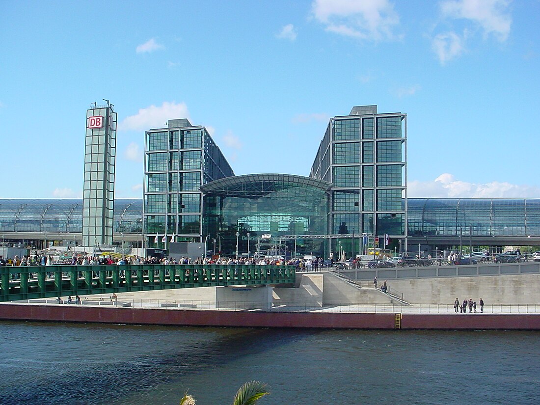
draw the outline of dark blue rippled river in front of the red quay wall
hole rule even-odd
[[[0,322],[0,403],[537,404],[538,332]]]

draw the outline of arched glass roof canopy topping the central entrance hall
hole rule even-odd
[[[265,173],[226,177],[205,184],[200,190],[205,194],[219,194],[222,197],[257,199],[291,186],[314,187],[326,192],[330,190],[332,184],[325,180],[295,174]]]

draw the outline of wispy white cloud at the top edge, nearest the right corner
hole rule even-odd
[[[484,31],[484,36],[495,35],[504,41],[510,33],[512,19],[508,0],[446,0],[440,3],[444,17],[468,19]]]

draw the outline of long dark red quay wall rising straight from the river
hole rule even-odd
[[[395,329],[395,314],[186,311],[15,303],[0,304],[0,320],[169,326]],[[403,314],[401,329],[540,330],[540,314]]]

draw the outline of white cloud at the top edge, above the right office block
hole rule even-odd
[[[388,0],[315,0],[312,12],[327,31],[360,39],[394,39],[400,21]]]

